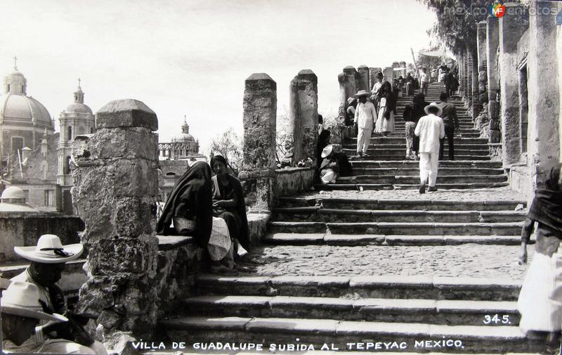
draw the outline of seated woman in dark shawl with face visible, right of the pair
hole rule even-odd
[[[227,166],[222,155],[211,158],[211,167],[216,174],[212,178],[213,216],[224,219],[230,238],[236,239],[244,249],[249,250],[248,219],[242,184],[228,174]]]

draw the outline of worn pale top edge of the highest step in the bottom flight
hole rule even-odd
[[[264,287],[329,287],[366,289],[437,289],[437,290],[521,290],[523,280],[507,278],[473,278],[455,276],[221,276],[201,274],[195,278],[197,285],[228,284]]]

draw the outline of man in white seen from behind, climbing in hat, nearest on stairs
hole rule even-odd
[[[428,191],[437,191],[437,169],[439,160],[440,140],[445,137],[445,125],[441,117],[442,109],[437,103],[430,103],[424,108],[426,116],[417,122],[414,134],[419,136],[419,193],[426,193],[426,183],[429,179]]]

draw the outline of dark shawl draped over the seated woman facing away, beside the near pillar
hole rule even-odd
[[[195,162],[178,180],[157,221],[157,234],[178,234],[170,228],[174,216],[195,218],[197,230],[192,236],[200,246],[207,246],[213,228],[213,198],[211,167],[206,162]]]

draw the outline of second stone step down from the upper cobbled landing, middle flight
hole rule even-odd
[[[320,222],[447,222],[497,223],[525,219],[525,211],[424,211],[404,209],[331,209],[289,207],[273,209],[275,221]]]

